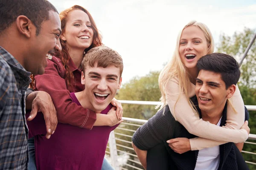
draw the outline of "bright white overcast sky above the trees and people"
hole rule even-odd
[[[163,68],[177,34],[190,20],[205,23],[215,45],[221,33],[256,28],[255,0],[49,0],[59,12],[73,5],[86,8],[103,43],[123,58],[123,82]],[[207,1],[207,2],[206,2]]]

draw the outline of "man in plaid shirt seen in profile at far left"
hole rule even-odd
[[[61,51],[61,21],[47,0],[0,0],[0,18],[0,169],[24,170],[28,168],[29,76],[43,74],[47,54]],[[51,134],[57,117],[46,114]]]

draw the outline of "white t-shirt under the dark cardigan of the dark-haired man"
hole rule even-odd
[[[221,119],[217,125],[221,125]],[[198,152],[195,170],[218,170],[219,163],[220,146],[205,148]]]

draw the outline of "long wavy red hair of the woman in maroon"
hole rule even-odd
[[[88,17],[90,19],[90,23],[91,23],[91,28],[93,29],[93,42],[92,42],[92,44],[90,45],[89,48],[86,48],[84,50],[84,52],[87,53],[87,51],[89,51],[91,48],[103,45],[102,36],[101,36],[101,34],[99,34],[99,31],[96,27],[96,24],[93,20],[93,17],[91,16],[91,14],[85,8],[83,8],[81,6],[78,6],[78,5],[74,5],[70,8],[67,8],[59,14],[60,19],[61,19],[62,33],[65,32],[65,26],[66,26],[66,23],[67,23],[68,13],[71,12],[71,11],[74,11],[74,10],[84,11],[88,15]],[[73,87],[73,82],[74,82],[74,75],[73,75],[72,71],[70,70],[70,68],[68,66],[68,63],[69,63],[71,57],[68,53],[68,48],[67,48],[66,42],[61,40],[61,39],[60,39],[60,42],[61,42],[62,51],[61,52],[56,51],[55,56],[61,58],[61,61],[62,61],[63,65],[66,69],[65,82],[66,82],[67,87],[70,88],[70,87]],[[31,78],[32,78],[32,82],[30,83],[30,87],[35,88],[34,75],[31,75]]]

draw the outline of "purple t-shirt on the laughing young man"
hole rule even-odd
[[[81,105],[74,93],[70,96]],[[110,104],[101,113],[107,114],[111,108]],[[29,137],[35,136],[37,170],[101,170],[109,134],[118,126],[95,126],[87,130],[58,123],[55,133],[46,139],[42,113],[27,124]]]

